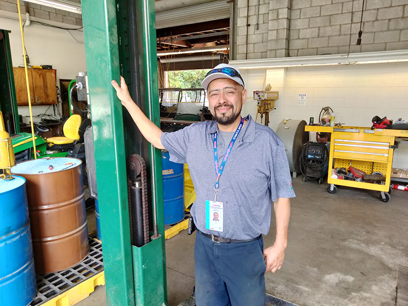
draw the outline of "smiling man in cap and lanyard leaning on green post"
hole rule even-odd
[[[196,200],[191,208],[198,229],[195,247],[197,306],[264,306],[264,273],[281,269],[287,246],[290,199],[294,197],[285,147],[267,126],[241,118],[246,89],[239,70],[220,64],[202,86],[216,121],[197,122],[163,133],[134,104],[121,78],[112,81],[122,104],[143,136],[186,163]],[[276,238],[263,250],[271,201]],[[222,214],[213,222],[212,212]]]

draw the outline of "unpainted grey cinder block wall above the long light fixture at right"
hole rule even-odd
[[[408,0],[247,3],[238,0],[237,60],[408,49]]]

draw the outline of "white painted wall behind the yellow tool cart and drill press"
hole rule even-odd
[[[241,69],[248,97],[270,83],[279,91],[276,110],[270,113],[269,126],[276,131],[286,119],[310,117],[318,121],[322,107],[330,106],[336,122],[371,126],[375,115],[408,121],[408,63],[382,63],[342,66],[293,67],[280,69]],[[266,75],[266,78],[265,78]],[[298,105],[299,94],[307,94],[304,105]],[[255,119],[257,102],[247,99],[243,114]],[[258,115],[258,123],[261,123]],[[311,137],[314,140],[314,136]],[[408,169],[408,144],[395,150],[393,167]]]

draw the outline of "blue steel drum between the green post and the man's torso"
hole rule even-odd
[[[184,218],[184,164],[170,162],[169,152],[162,151],[164,224]]]

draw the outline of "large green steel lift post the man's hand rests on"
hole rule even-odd
[[[123,75],[133,99],[160,126],[154,1],[82,0],[82,16],[107,304],[167,305],[161,151],[143,140],[111,86]],[[132,154],[146,162],[149,224],[160,235],[142,247],[130,238],[126,158]]]

